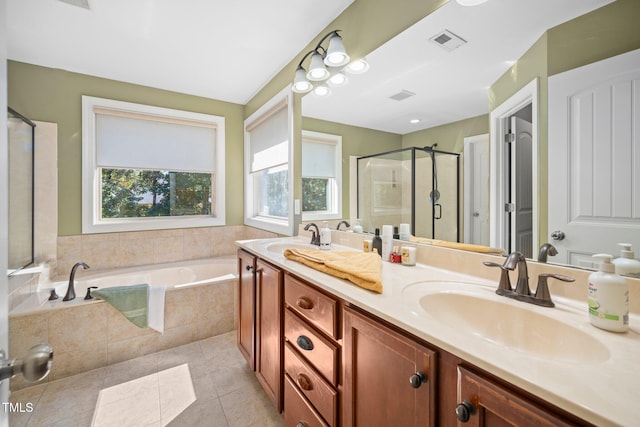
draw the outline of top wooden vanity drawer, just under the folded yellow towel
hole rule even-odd
[[[287,275],[284,279],[284,300],[304,319],[338,338],[338,302],[335,299]]]

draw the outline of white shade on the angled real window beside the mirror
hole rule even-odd
[[[264,120],[248,126],[251,134],[251,172],[289,161],[289,125],[286,104]]]

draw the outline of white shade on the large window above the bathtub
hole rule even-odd
[[[216,128],[96,112],[99,167],[215,171]]]

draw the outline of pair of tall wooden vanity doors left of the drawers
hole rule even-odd
[[[283,401],[282,270],[238,251],[238,348],[278,411]]]

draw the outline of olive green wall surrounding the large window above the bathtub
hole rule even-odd
[[[242,105],[14,61],[8,89],[9,105],[20,114],[58,124],[59,236],[82,232],[82,95],[224,116],[226,221],[243,223]]]

